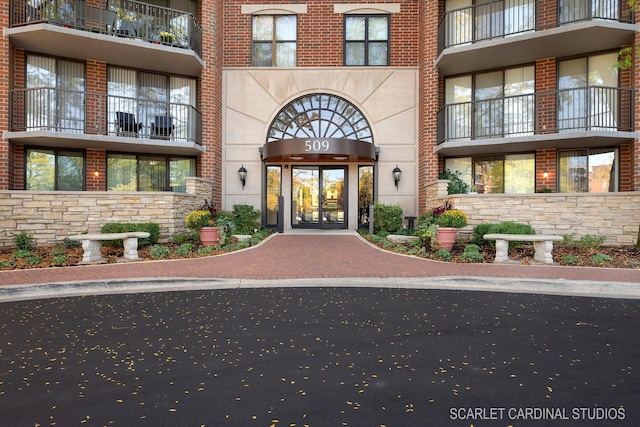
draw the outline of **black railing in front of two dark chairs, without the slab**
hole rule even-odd
[[[9,93],[11,131],[49,131],[202,144],[202,114],[188,104],[55,88]]]

